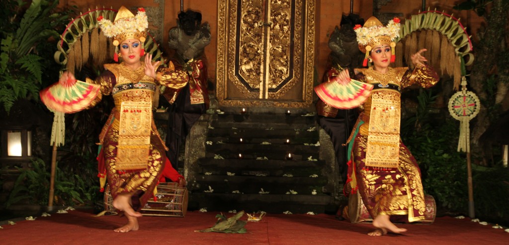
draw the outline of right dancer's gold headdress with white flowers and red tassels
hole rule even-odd
[[[394,62],[396,56],[394,55],[394,42],[400,36],[400,19],[394,18],[383,26],[382,22],[376,17],[372,16],[366,20],[364,26],[355,25],[354,30],[357,35],[357,42],[359,43],[359,50],[366,53],[364,57],[363,66],[367,66],[367,56],[371,49],[380,44],[390,44],[392,56],[390,62]]]

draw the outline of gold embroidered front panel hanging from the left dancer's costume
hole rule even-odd
[[[150,150],[152,103],[123,101],[120,107],[117,169],[145,169]]]

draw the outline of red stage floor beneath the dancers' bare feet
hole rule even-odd
[[[370,224],[350,224],[330,215],[267,214],[260,222],[248,222],[245,234],[195,232],[214,225],[216,214],[142,217],[138,231],[116,233],[112,229],[123,225],[125,218],[74,210],[2,224],[0,244],[509,244],[509,233],[503,229],[450,217],[437,218],[432,225],[401,225],[408,229],[404,235],[383,237],[366,235]]]

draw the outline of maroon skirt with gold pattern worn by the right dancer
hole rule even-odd
[[[404,215],[409,222],[425,219],[420,169],[401,139],[398,168],[366,167],[366,147],[367,136],[357,134],[352,150],[352,167],[355,169],[357,191],[371,217]]]

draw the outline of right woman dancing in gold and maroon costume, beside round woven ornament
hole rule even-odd
[[[399,31],[398,18],[383,26],[371,17],[364,26],[355,26],[359,49],[365,53],[363,65],[367,60],[373,63],[370,68],[355,69],[355,79],[373,84],[374,88],[359,107],[360,115],[349,139],[353,147],[345,188],[360,194],[374,219],[376,230],[369,233],[372,236],[406,231],[394,225],[391,216],[404,216],[409,222],[425,219],[420,169],[400,139],[401,89],[414,84],[429,88],[439,77],[425,64],[427,59],[422,53],[426,49],[411,56],[414,69],[389,67],[394,62],[393,41]],[[349,81],[348,71],[344,70],[338,82]]]

